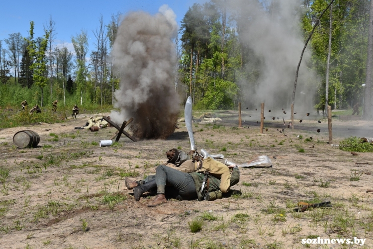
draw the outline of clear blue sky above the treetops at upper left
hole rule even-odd
[[[30,21],[35,22],[35,36],[44,34],[43,24],[50,16],[55,21],[55,44],[65,43],[69,50],[73,50],[71,36],[76,36],[82,29],[87,30],[89,36],[89,50],[93,49],[93,30],[99,25],[98,18],[103,16],[105,24],[110,20],[111,14],[143,10],[151,14],[158,12],[163,4],[168,4],[176,13],[177,21],[183,19],[188,7],[201,0],[2,0],[0,15],[0,40],[4,40],[11,33],[20,32],[22,36],[28,35]],[[7,47],[2,42],[3,47]],[[72,51],[73,52],[73,51]],[[88,54],[89,55],[89,54]]]

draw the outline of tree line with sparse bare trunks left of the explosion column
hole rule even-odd
[[[95,42],[90,54],[84,29],[71,37],[76,56],[66,44],[56,46],[52,17],[43,24],[40,37],[35,37],[35,23],[30,21],[28,36],[18,32],[0,40],[0,106],[19,105],[24,99],[41,106],[55,99],[64,106],[66,102],[112,105],[119,81],[113,76],[109,53],[119,18],[120,13],[113,14],[105,24],[103,16],[99,17],[99,25],[92,31]]]

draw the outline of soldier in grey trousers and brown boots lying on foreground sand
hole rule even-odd
[[[143,193],[155,187],[157,187],[157,196],[154,201],[148,205],[149,207],[155,207],[162,203],[166,203],[167,199],[170,198],[178,200],[212,200],[212,198],[222,198],[222,194],[227,193],[230,186],[237,184],[240,179],[238,167],[235,165],[226,166],[210,157],[204,160],[202,164],[206,164],[205,166],[207,168],[202,170],[202,167],[198,169],[198,172],[192,173],[181,172],[165,165],[158,166],[155,177],[153,176],[145,179],[143,182],[136,182],[137,187],[133,188],[135,200],[139,201]],[[229,168],[233,168],[233,171],[229,171]],[[205,178],[204,172],[206,171],[214,173],[207,175],[205,188],[201,190]],[[228,174],[226,172],[228,172]],[[127,179],[126,186],[130,185]],[[133,182],[131,182],[131,184],[133,184]]]

